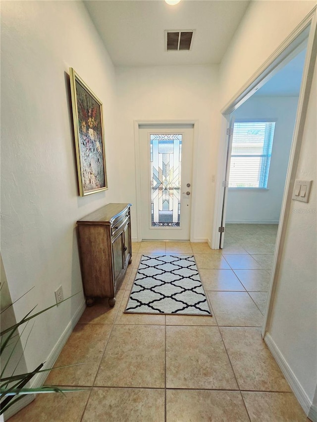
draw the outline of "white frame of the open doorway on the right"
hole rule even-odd
[[[311,27],[309,28],[309,25]],[[273,255],[273,266],[271,271],[270,283],[268,288],[267,303],[262,327],[262,337],[264,338],[268,331],[273,301],[278,283],[279,266],[281,262],[283,245],[286,236],[288,217],[290,213],[290,204],[292,200],[292,189],[295,182],[299,155],[301,151],[302,137],[305,126],[306,111],[309,102],[309,96],[314,76],[314,66],[317,56],[317,6],[303,19],[303,21],[291,32],[284,42],[267,58],[264,64],[257,72],[246,82],[234,97],[221,110],[221,132],[218,162],[220,163],[217,171],[217,186],[215,197],[215,211],[213,218],[212,247],[219,248],[220,234],[218,227],[221,225],[223,192],[222,182],[225,180],[226,154],[228,151],[227,129],[229,127],[230,114],[238,108],[243,102],[250,98],[265,82],[270,79],[277,71],[284,66],[285,59],[291,60],[298,52],[304,40],[308,39],[307,52],[302,76],[302,84],[299,94],[297,113],[295,118],[295,127],[293,133],[290,158],[287,169],[285,188],[278,225],[275,251]],[[296,40],[296,41],[295,41]]]

